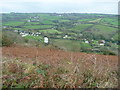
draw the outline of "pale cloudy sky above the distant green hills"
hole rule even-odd
[[[2,13],[117,14],[119,0],[0,0]]]

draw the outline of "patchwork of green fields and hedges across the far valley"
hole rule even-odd
[[[47,36],[50,44],[68,51],[82,48],[88,52],[87,48],[93,50],[96,47],[111,51],[111,46],[117,48],[120,42],[117,19],[118,16],[112,14],[10,13],[3,14],[3,31],[39,32],[39,36],[30,34],[25,38],[40,42],[39,39],[44,41]],[[99,45],[100,40],[106,41],[104,46]]]

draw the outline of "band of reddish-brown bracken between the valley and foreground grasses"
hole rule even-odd
[[[70,60],[71,62],[82,60],[82,62],[85,62],[85,65],[108,65],[112,69],[117,69],[118,64],[118,56],[67,52],[57,49],[23,46],[3,47],[2,56],[10,59],[18,58],[27,63],[33,63],[36,60],[37,62],[56,64],[59,63],[60,60]]]

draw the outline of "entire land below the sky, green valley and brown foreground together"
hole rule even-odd
[[[3,88],[117,88],[117,17],[3,13]]]

